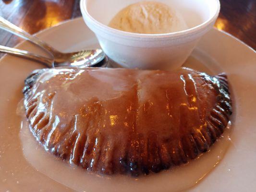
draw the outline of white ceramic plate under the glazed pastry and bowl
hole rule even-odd
[[[61,51],[98,48],[94,34],[81,18],[37,34]],[[43,52],[28,42],[18,48]],[[223,160],[189,192],[253,192],[256,189],[256,52],[216,29],[204,36],[186,66],[216,74],[226,72],[234,103],[232,145]],[[16,114],[26,76],[41,64],[12,56],[0,60],[0,191],[73,191],[32,168],[19,142]],[[48,185],[45,185],[48,183]],[[182,183],[181,183],[182,185]]]

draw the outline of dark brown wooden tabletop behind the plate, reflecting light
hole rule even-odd
[[[81,16],[80,0],[0,0],[0,16],[34,34]],[[256,0],[220,0],[215,24],[256,49]],[[0,45],[14,47],[21,38],[0,30]]]

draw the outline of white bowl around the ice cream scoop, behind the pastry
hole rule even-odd
[[[168,34],[136,34],[108,27],[124,7],[140,0],[81,0],[87,26],[111,60],[127,68],[175,69],[214,25],[219,0],[156,0],[180,12],[189,29]]]

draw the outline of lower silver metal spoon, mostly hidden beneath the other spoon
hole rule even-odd
[[[31,53],[29,51],[25,51],[25,50],[21,50],[21,49],[17,49],[17,48],[9,48],[9,47],[0,45],[0,52],[8,53],[8,54],[22,57],[22,58],[29,59],[29,60],[35,60],[37,62],[43,63],[44,65],[46,65],[49,68],[52,68],[54,65],[53,59],[49,59],[49,58]],[[108,64],[108,57],[106,56],[103,60],[101,60],[100,62],[95,64],[94,67],[106,67],[107,64]],[[69,66],[74,66],[74,65],[69,65]],[[81,67],[81,65],[80,65],[80,67]]]

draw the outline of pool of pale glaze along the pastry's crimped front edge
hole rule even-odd
[[[219,164],[231,143],[230,132],[229,123],[208,152],[186,165],[139,177],[99,175],[58,159],[39,144],[25,117],[21,123],[20,139],[24,157],[32,167],[78,192],[180,192],[195,186]]]

